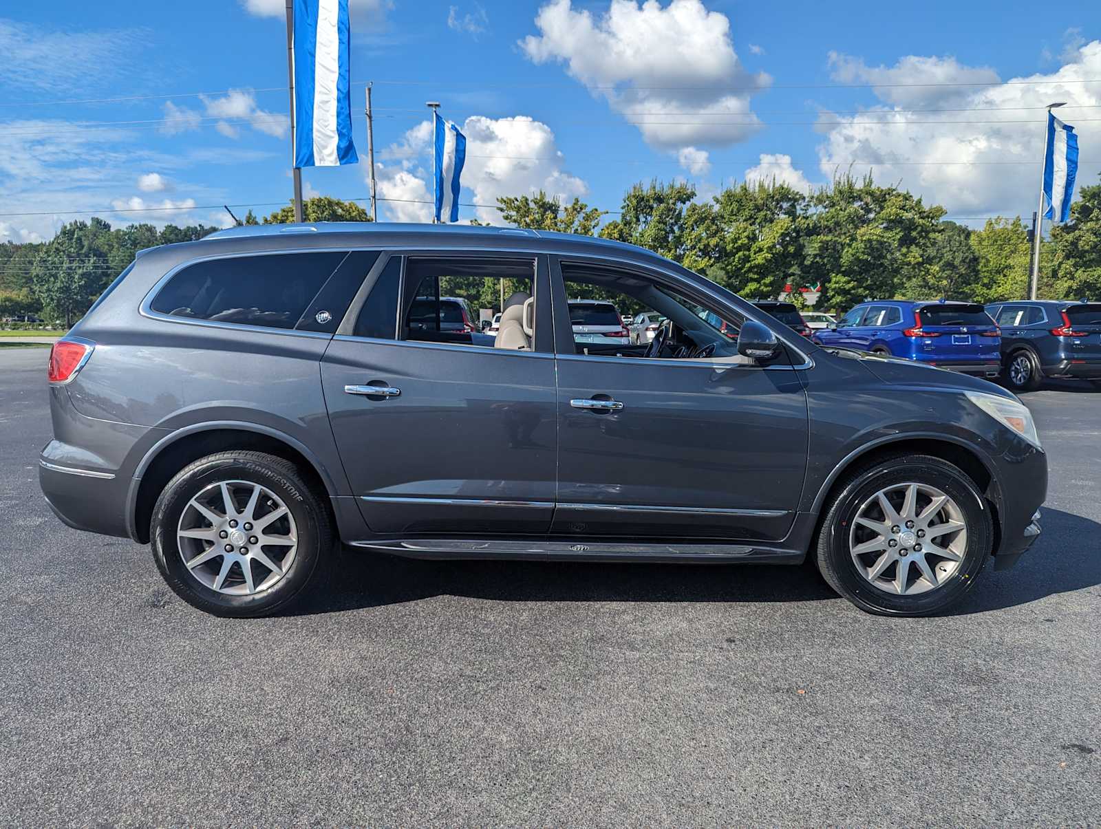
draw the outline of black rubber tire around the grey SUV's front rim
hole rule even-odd
[[[959,568],[940,587],[915,596],[897,596],[871,585],[852,560],[849,531],[860,506],[882,489],[898,483],[926,483],[950,495],[960,506],[968,533],[968,547]],[[824,550],[838,587],[864,610],[889,615],[928,615],[960,601],[986,564],[993,542],[990,509],[974,484],[946,462],[898,458],[859,473],[838,494],[824,527]]]

